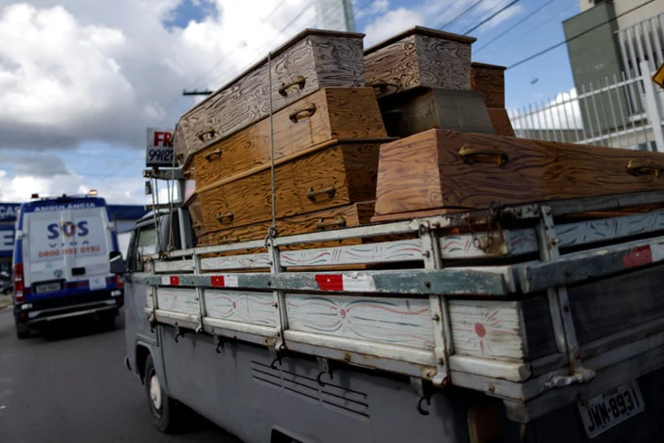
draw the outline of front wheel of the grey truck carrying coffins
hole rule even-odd
[[[144,374],[143,385],[145,385],[145,393],[150,403],[152,423],[159,431],[166,434],[179,431],[178,413],[181,412],[179,410],[180,405],[176,400],[168,397],[164,392],[164,388],[161,387],[161,381],[154,370],[152,355],[148,355],[148,359],[145,361]]]

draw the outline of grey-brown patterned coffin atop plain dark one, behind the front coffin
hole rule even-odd
[[[493,134],[483,93],[472,90],[474,38],[413,27],[365,51],[367,85],[389,136],[431,128]]]

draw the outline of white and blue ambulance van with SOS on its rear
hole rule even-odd
[[[23,203],[12,257],[19,338],[36,326],[95,315],[109,327],[124,303],[122,258],[104,198],[38,198]]]

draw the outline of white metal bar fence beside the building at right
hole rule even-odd
[[[580,89],[509,111],[516,136],[577,144],[664,152],[664,90],[652,82],[648,62],[632,78],[605,78]]]

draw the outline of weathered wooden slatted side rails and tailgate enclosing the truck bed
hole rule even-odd
[[[267,237],[146,256],[131,278],[176,337],[315,355],[320,380],[352,364],[466,387],[526,423],[664,366],[658,207],[664,192]]]

